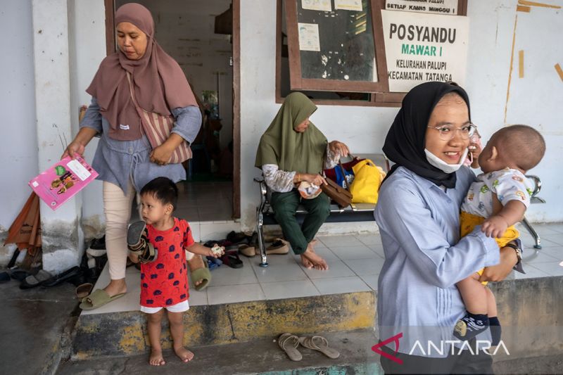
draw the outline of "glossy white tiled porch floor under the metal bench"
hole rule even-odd
[[[513,272],[510,278],[563,276],[563,223],[534,224],[541,236],[543,248],[537,254],[531,247],[531,236],[519,227],[524,242],[524,269],[527,274]],[[347,293],[377,290],[377,277],[384,262],[383,248],[378,234],[348,236],[320,236],[315,250],[330,269],[317,271],[305,269],[299,257],[270,255],[270,267],[258,267],[259,257],[246,258],[241,255],[244,267],[232,269],[221,266],[212,271],[211,286],[205,291],[190,288],[190,305],[214,305],[248,300],[276,300],[308,295]],[[107,267],[96,286],[108,283]],[[138,309],[139,271],[127,269],[129,293],[115,303],[87,313],[131,311]]]

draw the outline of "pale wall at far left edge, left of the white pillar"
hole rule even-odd
[[[0,235],[30,196],[27,182],[39,173],[31,9],[31,1],[20,0],[2,1],[0,7]]]

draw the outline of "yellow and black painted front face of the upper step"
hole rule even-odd
[[[244,343],[282,332],[339,332],[372,328],[375,293],[355,292],[304,298],[198,305],[184,314],[184,343],[190,347]],[[167,320],[163,348],[171,348]],[[139,311],[81,314],[72,358],[137,355],[149,348],[146,319]]]

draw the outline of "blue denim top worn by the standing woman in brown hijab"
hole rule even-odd
[[[172,110],[172,115],[175,118],[172,133],[179,134],[191,144],[201,127],[199,108],[195,106],[175,108]],[[186,179],[186,170],[180,163],[167,165],[151,163],[149,160],[151,145],[146,136],[143,135],[141,139],[134,141],[111,139],[108,136],[110,124],[101,115],[96,98],[92,98],[80,127],[96,129],[100,136],[92,161],[92,167],[99,173],[97,179],[118,185],[125,193],[129,177],[136,191],[156,177],[168,177],[174,182]]]

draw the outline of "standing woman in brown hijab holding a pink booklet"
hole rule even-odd
[[[106,217],[106,249],[110,284],[91,293],[80,305],[91,310],[127,292],[127,225],[132,199],[147,182],[168,177],[186,179],[181,163],[169,163],[175,149],[189,144],[201,126],[201,112],[182,68],[154,39],[150,11],[140,4],[125,4],[115,12],[118,51],[103,59],[87,92],[91,104],[80,122],[80,132],[65,150],[82,155],[94,136],[99,136],[92,166],[103,181],[103,211]],[[141,127],[141,117],[132,101],[147,112],[174,117],[170,136],[160,146],[151,145]],[[196,290],[210,280],[199,255],[189,262]]]

